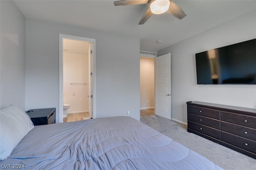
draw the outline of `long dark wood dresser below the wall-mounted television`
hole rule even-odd
[[[187,102],[188,132],[256,159],[256,109]]]

